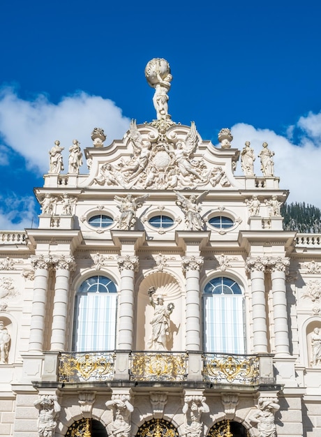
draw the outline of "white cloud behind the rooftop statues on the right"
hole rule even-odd
[[[321,114],[318,115],[321,117]],[[256,129],[242,123],[232,127],[232,135],[234,147],[242,149],[244,142],[250,141],[256,156],[260,153],[263,142],[269,144],[269,149],[275,153],[274,175],[280,177],[281,189],[290,190],[288,202],[306,202],[321,207],[320,184],[318,183],[321,138],[317,140],[317,129],[313,127],[315,126],[315,117],[315,114],[310,114],[305,117],[304,122],[301,117],[298,125],[294,126],[301,128],[298,145],[269,129]],[[311,141],[312,131],[313,142]],[[254,164],[255,174],[262,176],[260,158],[257,157]],[[241,175],[240,168],[241,166],[238,165],[238,175]]]

